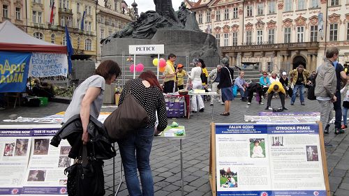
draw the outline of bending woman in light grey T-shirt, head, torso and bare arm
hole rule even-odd
[[[99,112],[103,104],[103,93],[105,84],[112,82],[119,77],[121,70],[115,61],[103,61],[96,68],[95,75],[87,78],[74,91],[73,99],[71,100],[66,113],[64,114],[63,123],[66,123],[70,117],[75,114],[80,114],[82,122],[82,142],[87,144],[89,134],[87,133],[87,125],[89,124],[89,115],[98,119]]]

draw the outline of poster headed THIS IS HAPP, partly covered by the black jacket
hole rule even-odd
[[[61,140],[58,148],[50,145],[52,136],[59,128],[38,128],[33,131],[22,195],[67,195],[64,169],[73,165],[73,159],[68,158],[68,141]]]

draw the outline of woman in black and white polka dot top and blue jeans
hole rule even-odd
[[[130,195],[154,195],[153,177],[149,165],[151,144],[154,137],[156,111],[158,113],[158,131],[163,131],[168,125],[166,105],[163,91],[151,71],[144,71],[138,79],[126,82],[124,89],[131,89],[135,100],[147,111],[150,121],[144,126],[128,134],[128,137],[119,141],[119,151],[125,169],[125,179]],[[126,90],[122,91],[119,105],[124,101]],[[140,173],[142,190],[137,176]],[[143,192],[143,193],[142,193]]]

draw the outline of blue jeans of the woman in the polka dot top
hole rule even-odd
[[[126,186],[131,196],[154,195],[154,183],[149,165],[153,138],[154,128],[140,128],[131,132],[125,140],[118,142],[125,170]],[[137,169],[140,172],[142,190],[140,190]]]

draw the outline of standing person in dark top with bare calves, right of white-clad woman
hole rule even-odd
[[[224,112],[221,114],[222,116],[230,115],[230,102],[232,101],[232,78],[234,78],[234,70],[229,67],[229,59],[224,57],[221,60],[223,64],[223,68],[221,69],[221,80],[218,84],[218,89],[222,91],[222,100],[225,104]]]

